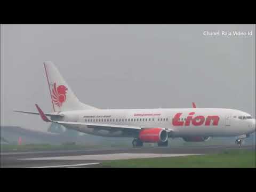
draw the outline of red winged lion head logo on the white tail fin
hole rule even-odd
[[[52,99],[55,105],[61,107],[62,103],[66,101],[67,97],[67,87],[64,85],[59,85],[56,87],[56,83],[53,84],[53,89],[52,89]]]

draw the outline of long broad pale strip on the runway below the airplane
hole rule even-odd
[[[155,157],[179,157],[203,154],[138,154],[138,153],[119,153],[119,154],[100,154],[100,155],[76,155],[76,156],[59,156],[59,157],[38,157],[38,158],[22,158],[19,160],[118,160],[118,159],[134,159],[134,158],[155,158]]]

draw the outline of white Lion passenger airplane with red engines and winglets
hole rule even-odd
[[[67,129],[102,137],[133,138],[133,147],[143,143],[168,146],[169,138],[188,142],[207,141],[212,137],[242,139],[255,132],[255,119],[241,110],[225,108],[156,108],[156,109],[99,109],[79,101],[53,62],[44,62],[50,91],[52,112],[15,112],[40,115],[44,122],[58,123]],[[50,118],[49,118],[50,117]]]

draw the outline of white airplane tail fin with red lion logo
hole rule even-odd
[[[44,69],[52,100],[54,112],[97,109],[80,102],[74,92],[70,89],[59,70],[51,61],[44,62]]]

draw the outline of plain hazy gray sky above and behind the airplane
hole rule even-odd
[[[204,36],[203,31],[252,36]],[[255,118],[255,25],[1,25],[1,125],[46,131],[43,61],[97,108],[233,108]]]

